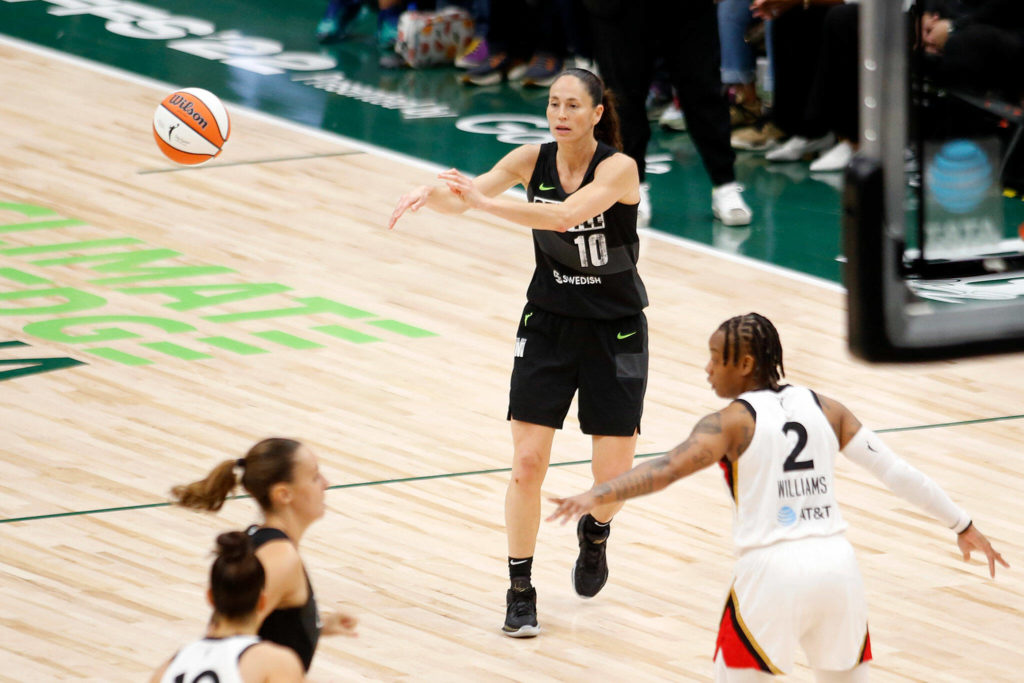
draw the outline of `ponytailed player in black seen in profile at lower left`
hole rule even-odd
[[[236,475],[241,470],[241,477]],[[239,483],[259,504],[263,523],[248,530],[256,557],[266,570],[266,604],[260,612],[263,640],[291,647],[308,671],[316,641],[324,635],[355,635],[355,618],[341,612],[323,621],[299,557],[299,541],[324,516],[327,480],[313,454],[288,438],[267,438],[245,458],[226,460],[205,479],[175,486],[171,495],[184,507],[216,511]]]

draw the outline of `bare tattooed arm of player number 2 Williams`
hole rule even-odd
[[[707,415],[689,437],[660,458],[634,467],[610,481],[595,485],[572,498],[552,498],[558,505],[548,521],[562,523],[586,514],[597,505],[652,494],[676,479],[702,470],[722,457],[735,460],[754,436],[754,420],[739,403]]]

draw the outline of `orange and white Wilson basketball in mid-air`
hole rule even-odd
[[[164,97],[153,114],[153,137],[171,161],[202,164],[220,154],[230,134],[227,110],[203,88],[184,88]]]

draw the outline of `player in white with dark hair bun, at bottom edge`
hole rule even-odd
[[[249,537],[217,537],[207,598],[213,616],[206,637],[185,645],[158,669],[150,683],[293,683],[304,679],[293,650],[256,635],[266,603],[266,575]]]

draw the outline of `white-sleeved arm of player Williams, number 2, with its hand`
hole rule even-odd
[[[988,559],[988,571],[995,578],[995,563],[1010,567],[1002,555],[979,531],[971,517],[961,509],[948,494],[931,477],[893,453],[879,436],[860,424],[845,405],[838,400],[818,395],[821,410],[839,438],[840,447],[847,458],[857,463],[886,484],[903,500],[928,512],[956,532],[964,560],[971,559],[971,551],[978,550]]]

